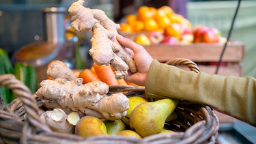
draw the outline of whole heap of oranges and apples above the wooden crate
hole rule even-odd
[[[203,25],[192,27],[190,20],[176,14],[167,5],[160,8],[143,5],[137,14],[126,16],[120,26],[120,33],[143,45],[223,42],[218,29]]]

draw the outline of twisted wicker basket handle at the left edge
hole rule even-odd
[[[35,128],[40,128],[40,130],[44,132],[52,132],[50,128],[40,121],[36,100],[31,94],[30,89],[24,83],[18,81],[13,74],[3,74],[0,75],[0,86],[11,89],[16,94],[17,98],[23,102],[29,124]]]

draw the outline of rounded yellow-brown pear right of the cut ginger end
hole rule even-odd
[[[86,115],[79,119],[74,128],[74,134],[88,138],[90,136],[106,135],[106,126],[98,117]]]

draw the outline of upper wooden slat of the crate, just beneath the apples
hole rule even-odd
[[[186,58],[192,61],[218,61],[224,44],[189,44],[169,46],[166,44],[144,46],[150,55],[158,61]],[[230,42],[223,55],[223,61],[241,61],[244,58],[244,44]]]

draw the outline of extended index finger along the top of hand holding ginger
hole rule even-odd
[[[133,42],[128,38],[124,38],[122,35],[117,35],[117,40],[120,44],[125,46],[126,48],[130,48],[134,53],[137,53],[143,49],[143,46]]]

